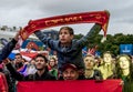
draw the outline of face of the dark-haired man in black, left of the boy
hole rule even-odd
[[[44,61],[42,57],[38,57],[35,59],[34,64],[35,64],[37,70],[43,70],[47,67],[47,62]]]

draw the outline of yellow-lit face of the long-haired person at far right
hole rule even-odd
[[[130,61],[125,57],[121,57],[119,63],[122,70],[130,68]]]

